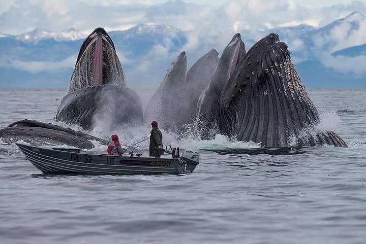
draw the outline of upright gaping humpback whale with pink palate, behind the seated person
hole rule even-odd
[[[68,94],[57,109],[56,120],[89,129],[98,120],[110,126],[142,123],[139,96],[126,87],[123,68],[115,47],[103,28],[95,29],[84,40]]]

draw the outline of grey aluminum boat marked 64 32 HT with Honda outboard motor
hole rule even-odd
[[[191,173],[199,164],[198,150],[183,150],[178,158],[166,157],[169,155],[155,158],[96,154],[84,152],[81,149],[44,148],[20,143],[16,145],[29,162],[47,174],[178,175]]]

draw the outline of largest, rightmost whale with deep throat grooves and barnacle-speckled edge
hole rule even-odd
[[[300,146],[347,146],[332,131],[312,133],[319,124],[318,111],[301,84],[288,46],[276,33],[261,39],[242,58],[217,107],[221,131],[240,141],[277,148],[294,140]]]

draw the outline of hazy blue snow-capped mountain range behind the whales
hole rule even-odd
[[[302,24],[237,32],[247,50],[268,33],[279,33],[307,86],[361,87],[366,86],[365,30],[366,17],[354,12],[321,27]],[[0,33],[0,88],[66,88],[87,34],[73,28],[61,32],[35,29],[18,36]],[[180,51],[187,51],[192,65],[211,48],[220,53],[234,32],[217,30],[202,35],[169,25],[139,24],[109,34],[129,86],[148,96]]]

